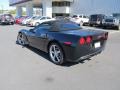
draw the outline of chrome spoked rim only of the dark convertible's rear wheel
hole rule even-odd
[[[63,53],[61,49],[57,45],[50,46],[50,58],[54,63],[60,63],[63,61]]]

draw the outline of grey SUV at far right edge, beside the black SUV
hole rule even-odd
[[[104,28],[117,28],[117,30],[120,30],[120,21],[117,18],[114,17],[106,17],[103,19],[102,25]]]

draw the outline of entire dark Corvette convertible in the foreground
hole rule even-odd
[[[60,65],[101,53],[107,38],[108,32],[86,30],[71,21],[55,20],[44,22],[34,29],[19,31],[17,42],[49,53],[51,61]]]

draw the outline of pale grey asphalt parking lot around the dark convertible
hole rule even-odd
[[[120,90],[119,31],[105,30],[110,34],[100,55],[58,66],[44,52],[16,44],[22,28],[0,26],[0,90]]]

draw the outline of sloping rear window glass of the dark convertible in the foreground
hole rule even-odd
[[[61,24],[61,30],[79,30],[81,27],[73,23]]]

